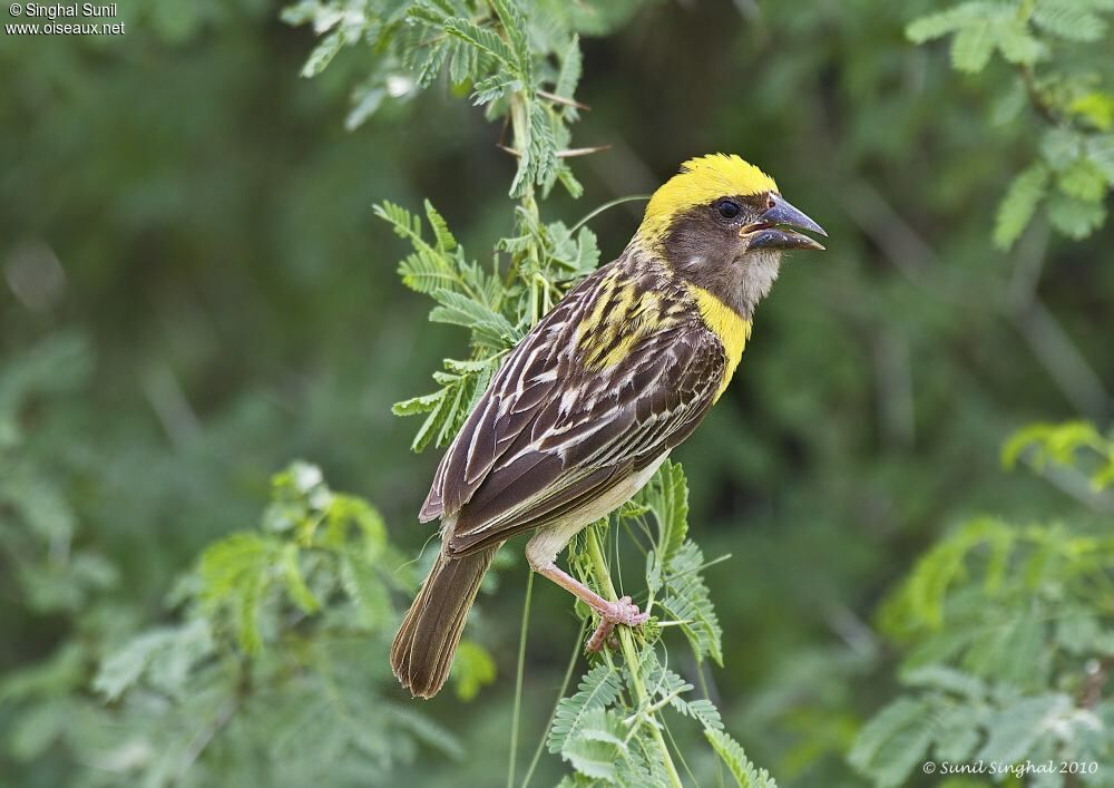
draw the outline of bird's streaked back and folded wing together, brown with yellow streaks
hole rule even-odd
[[[643,270],[632,283],[624,262],[582,282],[511,351],[446,453],[421,517],[456,515],[451,552],[605,495],[684,440],[714,401],[722,343],[683,285]],[[626,290],[602,281],[623,276]],[[606,344],[582,349],[594,329]]]

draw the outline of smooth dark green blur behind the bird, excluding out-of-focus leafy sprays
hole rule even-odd
[[[871,619],[916,556],[965,517],[1063,507],[1003,471],[1003,440],[1111,415],[1114,230],[1072,242],[1038,221],[993,251],[1035,123],[995,124],[1007,68],[967,78],[906,39],[930,8],[646,3],[584,41],[576,143],[610,148],[576,162],[582,200],[545,210],[573,223],[722,150],[830,235],[784,267],[736,381],[675,453],[695,538],[733,556],[709,571],[727,654],[713,694],[788,786],[859,784],[843,756],[892,692]],[[403,247],[371,204],[428,196],[481,260],[510,232],[499,127],[444,85],[348,132],[372,56],[299,78],[313,37],[270,3],[125,2],[120,19],[116,39],[0,37],[0,677],[165,619],[175,578],[254,525],[295,457],[416,553],[438,457],[409,451],[416,425],[390,405],[462,340],[399,283]],[[592,222],[604,260],[639,211]],[[480,755],[420,758],[404,784],[502,780],[527,575],[507,552],[475,633],[496,682],[421,707]],[[547,584],[534,622],[529,747],[578,628]],[[63,724],[25,724],[35,708],[0,694],[0,782],[88,781]],[[561,771],[547,756],[539,784]]]

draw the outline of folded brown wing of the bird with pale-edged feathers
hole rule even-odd
[[[695,429],[723,367],[719,341],[694,319],[603,370],[558,377],[460,509],[449,548],[467,554],[556,522],[649,466]]]

